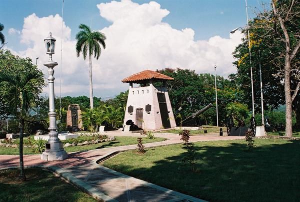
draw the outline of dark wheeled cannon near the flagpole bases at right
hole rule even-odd
[[[250,131],[252,137],[256,134],[256,122],[255,118],[250,118],[250,124],[249,126],[245,126],[244,121],[239,120],[238,118],[235,118],[236,121],[238,121],[238,126],[234,127],[233,117],[232,115],[228,116],[227,122],[226,122],[226,129],[227,129],[227,135],[228,136],[244,136],[246,131]]]

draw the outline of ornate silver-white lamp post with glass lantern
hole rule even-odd
[[[56,126],[56,112],[54,109],[54,77],[53,67],[57,65],[57,62],[52,61],[52,54],[54,54],[56,39],[49,36],[44,39],[46,46],[46,53],[49,55],[49,60],[44,63],[48,67],[48,84],[49,84],[49,139],[46,143],[46,149],[41,155],[41,159],[45,161],[64,160],[67,158],[67,154],[63,149],[62,142],[58,139],[58,132]]]

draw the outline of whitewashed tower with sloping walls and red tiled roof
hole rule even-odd
[[[158,130],[176,127],[166,89],[166,81],[173,78],[151,70],[144,70],[122,80],[129,83],[124,123],[132,120],[139,128]],[[153,83],[160,82],[161,87]],[[133,87],[133,83],[139,84]]]

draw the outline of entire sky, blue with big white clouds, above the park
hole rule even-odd
[[[260,0],[248,0],[249,16]],[[55,95],[88,96],[88,60],[75,53],[80,23],[103,32],[106,48],[92,60],[94,96],[128,88],[121,79],[145,69],[187,68],[227,76],[236,71],[231,52],[246,24],[244,0],[1,0],[6,48],[29,57],[46,74],[43,39],[56,38]],[[61,33],[62,26],[62,33]],[[62,60],[60,46],[62,41]],[[46,78],[46,76],[45,76]],[[47,92],[47,88],[44,89]]]

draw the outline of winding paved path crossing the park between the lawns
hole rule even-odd
[[[107,132],[109,136],[134,136],[140,137],[139,133],[121,133],[118,131]],[[163,137],[168,140],[144,144],[145,148],[165,146],[181,143],[180,136],[168,133],[155,133],[155,137]],[[190,142],[233,140],[244,137],[226,137],[218,134],[190,136]],[[135,149],[136,145],[110,147],[75,152],[69,154],[64,161],[42,161],[40,155],[24,155],[26,167],[42,167],[51,170],[70,183],[81,187],[94,197],[104,201],[119,202],[161,202],[161,201],[201,201],[199,199],[183,195],[145,181],[141,181],[113,170],[98,165],[96,162],[125,150]],[[17,155],[0,155],[0,169],[18,167]]]

